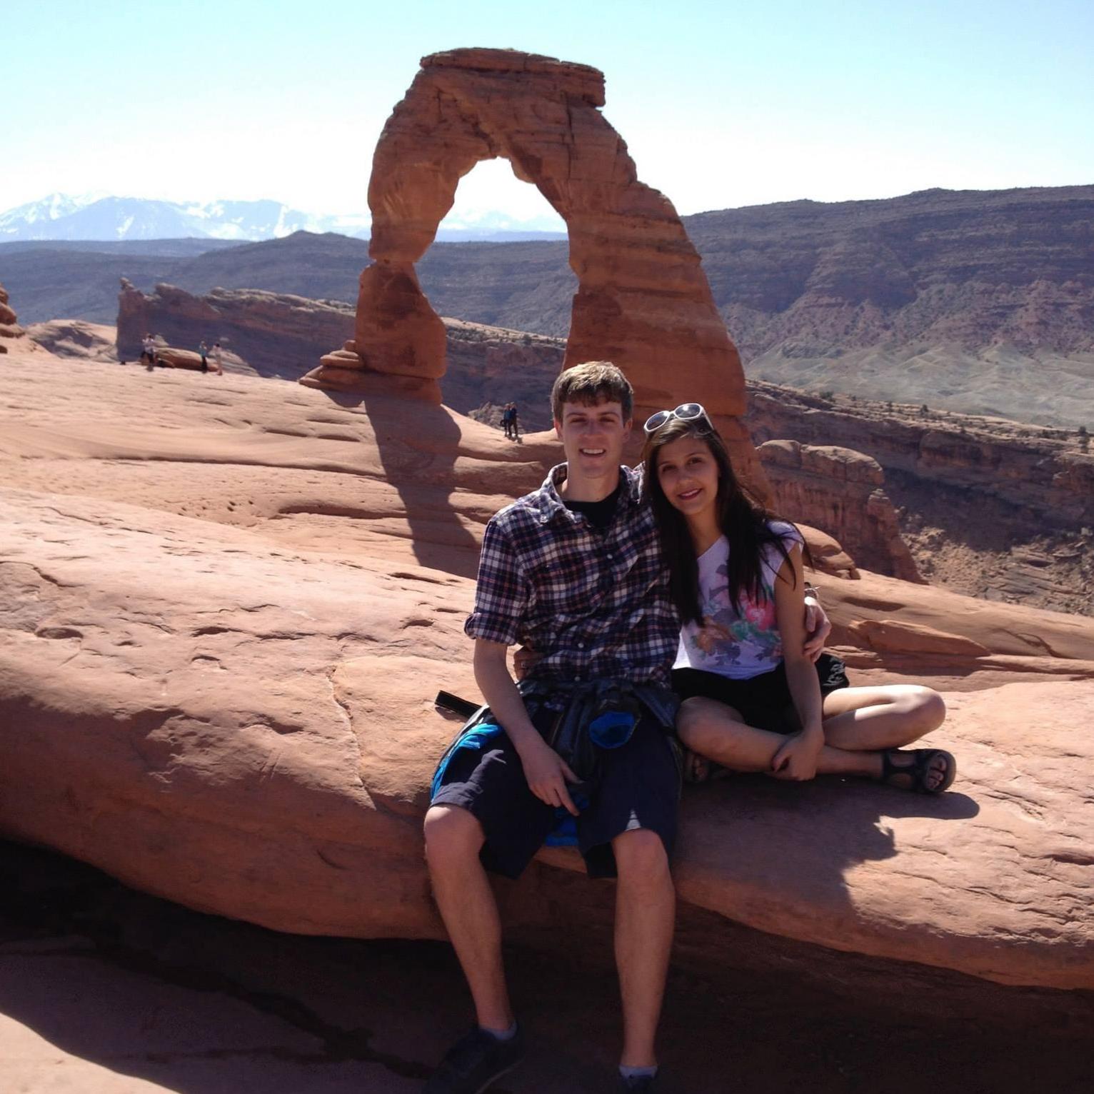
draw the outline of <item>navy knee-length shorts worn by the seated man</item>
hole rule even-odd
[[[555,717],[542,709],[532,721],[544,733]],[[672,856],[680,793],[677,748],[675,738],[644,715],[625,745],[604,749],[603,775],[577,821],[578,847],[590,877],[616,876],[612,840],[632,829],[655,831]],[[557,827],[560,814],[568,815],[532,793],[521,758],[504,733],[484,752],[455,752],[432,804],[467,810],[486,835],[479,852],[482,864],[505,877],[519,877]]]

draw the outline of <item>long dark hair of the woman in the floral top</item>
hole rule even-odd
[[[680,511],[665,497],[657,477],[657,452],[666,444],[682,437],[695,437],[702,441],[718,466],[718,527],[730,542],[728,578],[730,603],[737,614],[741,602],[750,598],[767,600],[764,587],[764,571],[760,565],[764,548],[775,544],[784,561],[790,555],[782,537],[768,527],[768,521],[776,520],[760,501],[737,479],[733,473],[725,442],[706,418],[682,420],[671,418],[645,442],[642,451],[644,462],[645,490],[653,507],[653,515],[661,535],[661,546],[668,559],[670,593],[683,622],[702,622],[699,604],[699,560],[691,543],[687,521]],[[796,579],[795,579],[796,580]]]

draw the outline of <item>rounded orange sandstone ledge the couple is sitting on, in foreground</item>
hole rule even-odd
[[[419,821],[455,729],[431,697],[475,694],[469,581],[100,500],[5,491],[0,517],[3,831],[280,930],[441,935]],[[825,579],[837,598],[873,580]],[[908,589],[884,582],[878,603],[886,586]],[[935,737],[962,776],[941,800],[750,778],[689,792],[683,899],[834,948],[1094,987],[1094,682],[946,700]]]

